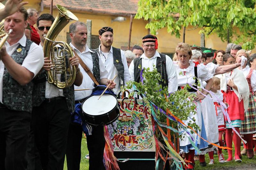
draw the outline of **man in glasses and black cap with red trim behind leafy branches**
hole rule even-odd
[[[158,53],[157,38],[154,35],[146,35],[142,38],[142,48],[144,53],[132,61],[129,67],[130,75],[133,81],[140,82],[140,69],[149,68],[151,71],[156,67],[161,75],[159,81],[162,86],[168,86],[168,92],[175,92],[178,89],[178,78],[172,59],[168,55]],[[141,65],[141,67],[140,67]],[[161,70],[162,69],[162,70]]]

